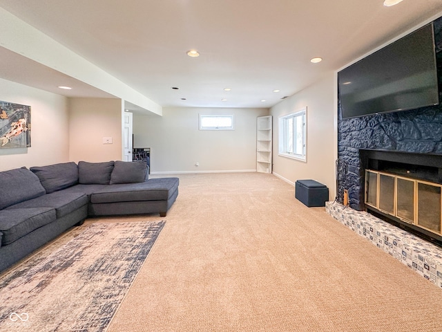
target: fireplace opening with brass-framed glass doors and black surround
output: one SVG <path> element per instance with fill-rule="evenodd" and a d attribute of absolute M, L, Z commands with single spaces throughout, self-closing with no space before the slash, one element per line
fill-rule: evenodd
<path fill-rule="evenodd" d="M 442 156 L 378 149 L 359 153 L 364 210 L 442 247 Z"/>

